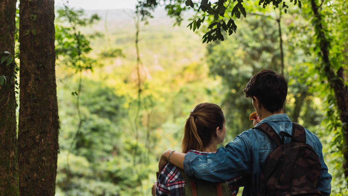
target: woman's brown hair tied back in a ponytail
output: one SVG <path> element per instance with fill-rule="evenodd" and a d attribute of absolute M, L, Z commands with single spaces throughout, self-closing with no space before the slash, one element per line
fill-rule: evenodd
<path fill-rule="evenodd" d="M 211 142 L 216 128 L 223 127 L 225 117 L 219 105 L 200 103 L 191 111 L 184 127 L 181 151 L 203 151 Z"/>

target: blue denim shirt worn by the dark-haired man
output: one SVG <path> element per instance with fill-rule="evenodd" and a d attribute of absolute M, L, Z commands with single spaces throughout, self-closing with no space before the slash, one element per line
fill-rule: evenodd
<path fill-rule="evenodd" d="M 270 124 L 279 134 L 280 131 L 292 133 L 292 123 L 286 114 L 271 115 L 260 123 Z M 259 123 L 259 124 L 260 124 Z M 257 126 L 257 125 L 256 125 Z M 318 137 L 306 129 L 306 143 L 310 144 L 319 155 L 322 172 L 319 190 L 324 196 L 331 193 L 331 174 L 324 162 L 322 144 Z M 290 138 L 285 138 L 290 143 Z M 276 148 L 276 144 L 260 130 L 249 129 L 236 136 L 225 148 L 217 149 L 216 153 L 207 156 L 189 152 L 185 155 L 185 173 L 196 178 L 219 182 L 239 174 L 246 174 L 243 196 L 256 195 L 259 180 L 266 157 Z"/>

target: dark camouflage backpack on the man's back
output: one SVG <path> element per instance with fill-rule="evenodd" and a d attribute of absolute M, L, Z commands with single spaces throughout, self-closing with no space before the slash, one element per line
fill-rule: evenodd
<path fill-rule="evenodd" d="M 266 158 L 260 177 L 257 196 L 322 196 L 318 190 L 321 173 L 319 156 L 306 144 L 304 128 L 292 123 L 292 135 L 281 131 L 279 135 L 267 123 L 254 128 L 266 133 L 277 148 Z M 284 144 L 284 137 L 291 143 Z"/>

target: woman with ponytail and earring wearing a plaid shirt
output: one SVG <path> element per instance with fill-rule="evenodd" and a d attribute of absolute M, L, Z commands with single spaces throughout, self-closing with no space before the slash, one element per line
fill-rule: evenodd
<path fill-rule="evenodd" d="M 196 105 L 185 123 L 181 152 L 194 152 L 199 155 L 216 152 L 216 145 L 222 143 L 225 138 L 225 123 L 226 119 L 218 105 L 213 103 Z M 228 183 L 232 195 L 237 195 L 241 181 L 240 176 L 225 181 Z M 168 164 L 157 180 L 156 196 L 182 196 L 184 185 L 184 178 L 177 167 L 170 163 L 169 156 Z"/>

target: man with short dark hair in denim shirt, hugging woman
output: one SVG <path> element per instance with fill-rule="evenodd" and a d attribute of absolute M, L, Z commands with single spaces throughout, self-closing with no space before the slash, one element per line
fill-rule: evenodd
<path fill-rule="evenodd" d="M 292 122 L 283 113 L 283 104 L 287 94 L 287 82 L 285 78 L 275 71 L 262 70 L 256 73 L 247 83 L 245 96 L 252 98 L 252 104 L 258 114 L 253 120 L 254 126 L 268 123 L 276 132 L 292 133 Z M 306 143 L 318 154 L 321 162 L 321 175 L 318 190 L 323 196 L 331 193 L 332 177 L 324 162 L 322 144 L 318 137 L 305 129 Z M 285 138 L 284 143 L 290 143 L 290 138 Z M 216 153 L 201 156 L 188 152 L 172 154 L 170 162 L 185 170 L 186 174 L 193 177 L 218 182 L 243 174 L 248 179 L 243 190 L 243 196 L 256 195 L 261 172 L 266 157 L 276 148 L 276 144 L 262 131 L 249 129 L 236 136 L 225 148 L 217 149 Z M 171 150 L 163 152 L 159 169 L 167 162 Z"/>

